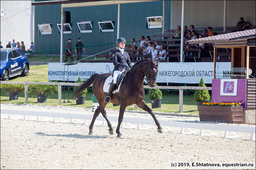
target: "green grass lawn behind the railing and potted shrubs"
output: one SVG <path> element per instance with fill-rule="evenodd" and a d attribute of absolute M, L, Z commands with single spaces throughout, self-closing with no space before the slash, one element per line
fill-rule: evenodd
<path fill-rule="evenodd" d="M 40 82 L 48 82 L 48 65 L 30 65 L 29 75 L 26 77 L 20 77 L 16 76 L 14 78 L 10 78 L 10 81 L 16 81 L 16 82 L 23 82 L 23 81 L 35 81 L 38 80 Z M 28 85 L 29 86 L 29 85 Z M 69 91 L 69 96 L 73 94 L 73 90 Z M 189 93 L 188 93 L 189 94 Z M 69 101 L 72 103 L 62 103 L 63 106 L 72 106 L 72 107 L 85 107 L 85 108 L 91 108 L 92 106 L 92 91 L 90 90 L 87 92 L 85 97 L 85 104 L 83 105 L 76 105 L 75 98 L 70 98 Z M 33 95 L 33 93 L 29 94 L 28 103 L 25 103 L 25 94 L 19 93 L 19 99 L 18 100 L 11 100 L 9 101 L 8 92 L 1 89 L 1 103 L 15 103 L 15 104 L 38 104 L 38 105 L 58 105 L 58 92 L 54 92 L 54 94 L 49 94 L 47 96 L 47 102 L 46 103 L 37 103 L 37 97 Z M 211 98 L 210 98 L 211 99 Z M 151 101 L 149 99 L 148 94 L 145 94 L 144 98 L 146 104 L 151 108 Z M 62 89 L 62 102 L 64 101 L 64 90 Z M 68 91 L 65 90 L 65 101 L 68 101 Z M 116 109 L 119 110 L 119 106 L 113 106 L 111 103 L 107 104 L 107 109 Z M 128 106 L 126 109 L 128 110 L 135 110 L 134 105 Z M 138 109 L 142 110 L 142 109 Z M 167 92 L 163 93 L 162 97 L 162 104 L 161 108 L 153 108 L 153 111 L 159 111 L 159 112 L 174 112 L 179 113 L 179 95 L 176 94 L 170 94 Z M 184 93 L 183 95 L 183 113 L 188 114 L 199 114 L 197 110 L 197 103 L 194 100 L 193 93 L 190 95 L 186 95 Z"/>

